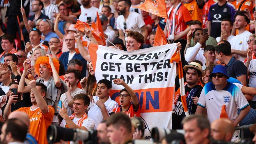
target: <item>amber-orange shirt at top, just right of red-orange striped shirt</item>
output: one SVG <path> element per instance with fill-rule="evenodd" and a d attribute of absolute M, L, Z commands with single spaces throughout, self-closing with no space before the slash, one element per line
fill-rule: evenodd
<path fill-rule="evenodd" d="M 184 6 L 188 9 L 193 20 L 199 20 L 203 23 L 203 6 L 198 6 L 196 0 L 193 0 L 190 3 L 185 3 Z"/>

